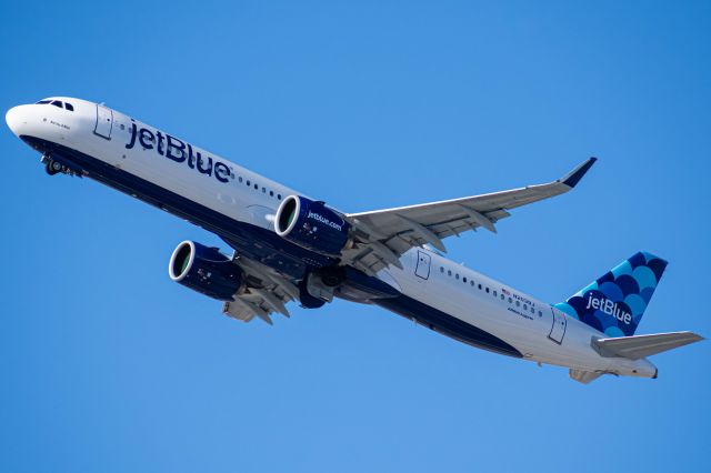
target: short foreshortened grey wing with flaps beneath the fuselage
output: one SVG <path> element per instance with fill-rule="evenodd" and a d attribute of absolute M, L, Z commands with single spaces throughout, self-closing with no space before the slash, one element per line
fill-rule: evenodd
<path fill-rule="evenodd" d="M 250 322 L 254 316 L 272 325 L 274 312 L 289 316 L 287 303 L 299 300 L 299 288 L 268 266 L 240 256 L 234 260 L 249 280 L 246 289 L 222 306 L 222 313 L 232 319 Z"/>

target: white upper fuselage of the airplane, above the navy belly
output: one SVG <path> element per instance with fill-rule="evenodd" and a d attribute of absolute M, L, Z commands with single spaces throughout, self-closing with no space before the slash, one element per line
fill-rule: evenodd
<path fill-rule="evenodd" d="M 79 99 L 57 99 L 74 110 L 51 104 L 17 107 L 7 117 L 12 131 L 79 151 L 229 221 L 268 231 L 273 231 L 281 200 L 299 194 L 116 110 Z M 170 202 L 152 203 L 174 210 Z M 437 252 L 410 250 L 401 263 L 402 269 L 389 266 L 378 276 L 408 298 L 504 341 L 527 360 L 623 375 L 652 378 L 657 373 L 645 359 L 600 356 L 591 340 L 605 338 L 603 333 Z"/>

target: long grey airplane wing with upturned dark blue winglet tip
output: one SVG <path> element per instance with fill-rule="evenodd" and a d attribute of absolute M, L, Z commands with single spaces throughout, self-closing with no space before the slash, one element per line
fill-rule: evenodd
<path fill-rule="evenodd" d="M 343 252 L 343 262 L 374 274 L 389 264 L 400 266 L 399 256 L 413 246 L 429 243 L 445 252 L 442 239 L 447 236 L 480 227 L 495 232 L 494 223 L 510 217 L 508 210 L 570 191 L 595 161 L 597 158 L 590 158 L 563 178 L 547 184 L 346 214 L 359 238 L 353 248 Z"/>

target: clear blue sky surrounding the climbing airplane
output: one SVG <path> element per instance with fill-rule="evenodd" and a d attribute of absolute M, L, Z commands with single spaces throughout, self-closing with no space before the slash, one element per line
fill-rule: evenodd
<path fill-rule="evenodd" d="M 353 212 L 598 155 L 450 256 L 557 302 L 650 251 L 638 332 L 709 336 L 710 4 L 574 3 L 4 3 L 0 105 L 103 101 Z M 1 471 L 709 471 L 709 342 L 583 386 L 342 301 L 240 324 L 167 274 L 216 236 L 0 145 Z"/>

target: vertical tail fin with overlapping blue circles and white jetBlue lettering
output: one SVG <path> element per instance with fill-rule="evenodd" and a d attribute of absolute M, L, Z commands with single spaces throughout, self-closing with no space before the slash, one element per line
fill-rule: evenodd
<path fill-rule="evenodd" d="M 665 268 L 640 251 L 555 308 L 608 336 L 633 335 Z"/>

